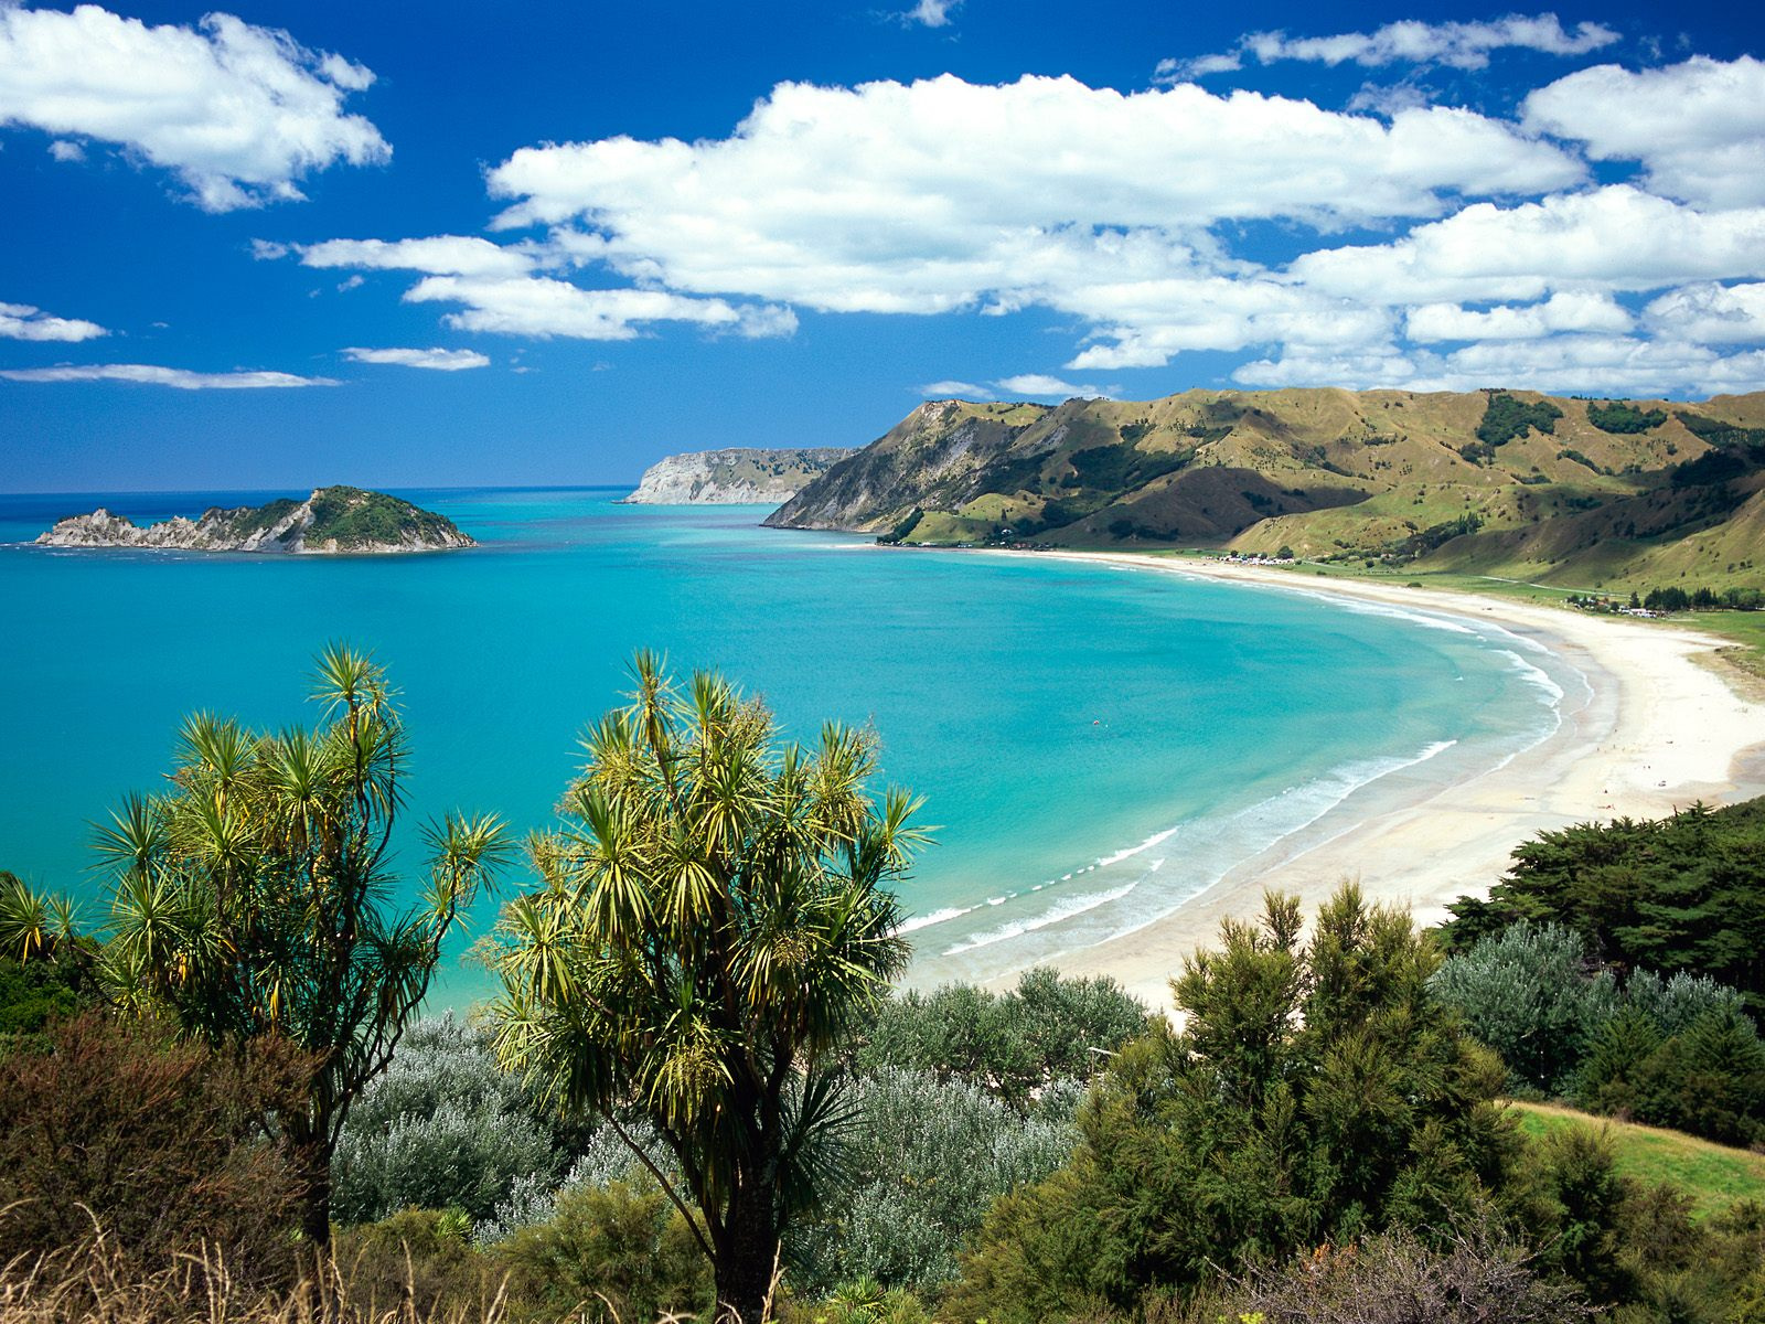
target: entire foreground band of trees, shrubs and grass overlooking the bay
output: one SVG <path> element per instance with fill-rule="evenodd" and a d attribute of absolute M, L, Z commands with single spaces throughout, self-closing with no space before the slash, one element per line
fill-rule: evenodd
<path fill-rule="evenodd" d="M 632 674 L 464 1020 L 422 996 L 514 846 L 445 814 L 390 904 L 409 741 L 346 646 L 314 731 L 185 724 L 106 914 L 0 874 L 0 1319 L 1761 1319 L 1765 801 L 1546 831 L 1435 930 L 1269 891 L 1177 1022 L 891 989 L 877 736 Z"/>

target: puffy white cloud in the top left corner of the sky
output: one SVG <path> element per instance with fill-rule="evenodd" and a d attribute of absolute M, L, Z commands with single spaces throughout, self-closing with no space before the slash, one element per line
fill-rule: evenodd
<path fill-rule="evenodd" d="M 120 143 L 210 212 L 302 198 L 298 180 L 392 148 L 342 102 L 372 74 L 231 14 L 148 26 L 79 5 L 0 5 L 0 124 Z"/>

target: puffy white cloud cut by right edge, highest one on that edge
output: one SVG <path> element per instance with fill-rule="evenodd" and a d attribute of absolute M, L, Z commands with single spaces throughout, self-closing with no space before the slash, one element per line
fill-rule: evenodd
<path fill-rule="evenodd" d="M 1532 131 L 1578 139 L 1596 161 L 1640 161 L 1649 187 L 1670 198 L 1765 203 L 1765 64 L 1749 55 L 1583 69 L 1528 95 L 1523 113 Z"/>

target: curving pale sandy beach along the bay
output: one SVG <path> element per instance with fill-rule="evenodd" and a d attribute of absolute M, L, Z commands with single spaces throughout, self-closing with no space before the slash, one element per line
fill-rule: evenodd
<path fill-rule="evenodd" d="M 1504 766 L 1333 824 L 1322 840 L 1281 842 L 1175 913 L 1059 962 L 1071 974 L 1110 974 L 1153 1006 L 1168 1006 L 1167 982 L 1183 957 L 1211 944 L 1223 918 L 1251 916 L 1266 888 L 1297 893 L 1311 911 L 1338 883 L 1359 879 L 1371 899 L 1405 904 L 1431 923 L 1456 897 L 1486 891 L 1513 849 L 1543 830 L 1765 794 L 1765 704 L 1709 664 L 1726 641 L 1694 628 L 1398 584 L 1301 581 L 1281 567 L 1033 554 L 1495 621 L 1550 648 L 1587 680 L 1585 694 L 1564 697 L 1557 731 Z"/>

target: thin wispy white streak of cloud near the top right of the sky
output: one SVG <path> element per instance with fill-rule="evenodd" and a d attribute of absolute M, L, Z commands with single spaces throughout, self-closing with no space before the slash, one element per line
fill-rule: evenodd
<path fill-rule="evenodd" d="M 1243 56 L 1253 55 L 1260 64 L 1278 60 L 1306 60 L 1313 64 L 1357 64 L 1382 67 L 1391 64 L 1449 65 L 1453 69 L 1484 69 L 1490 55 L 1502 49 L 1543 51 L 1544 55 L 1587 55 L 1619 41 L 1619 34 L 1603 23 L 1578 23 L 1566 32 L 1555 14 L 1509 14 L 1490 23 L 1423 23 L 1403 19 L 1387 23 L 1375 32 L 1338 32 L 1327 37 L 1288 37 L 1285 32 L 1251 32 L 1239 39 L 1237 48 L 1225 55 L 1202 55 L 1193 60 L 1161 60 L 1158 78 L 1175 81 L 1232 72 L 1243 67 Z"/>

